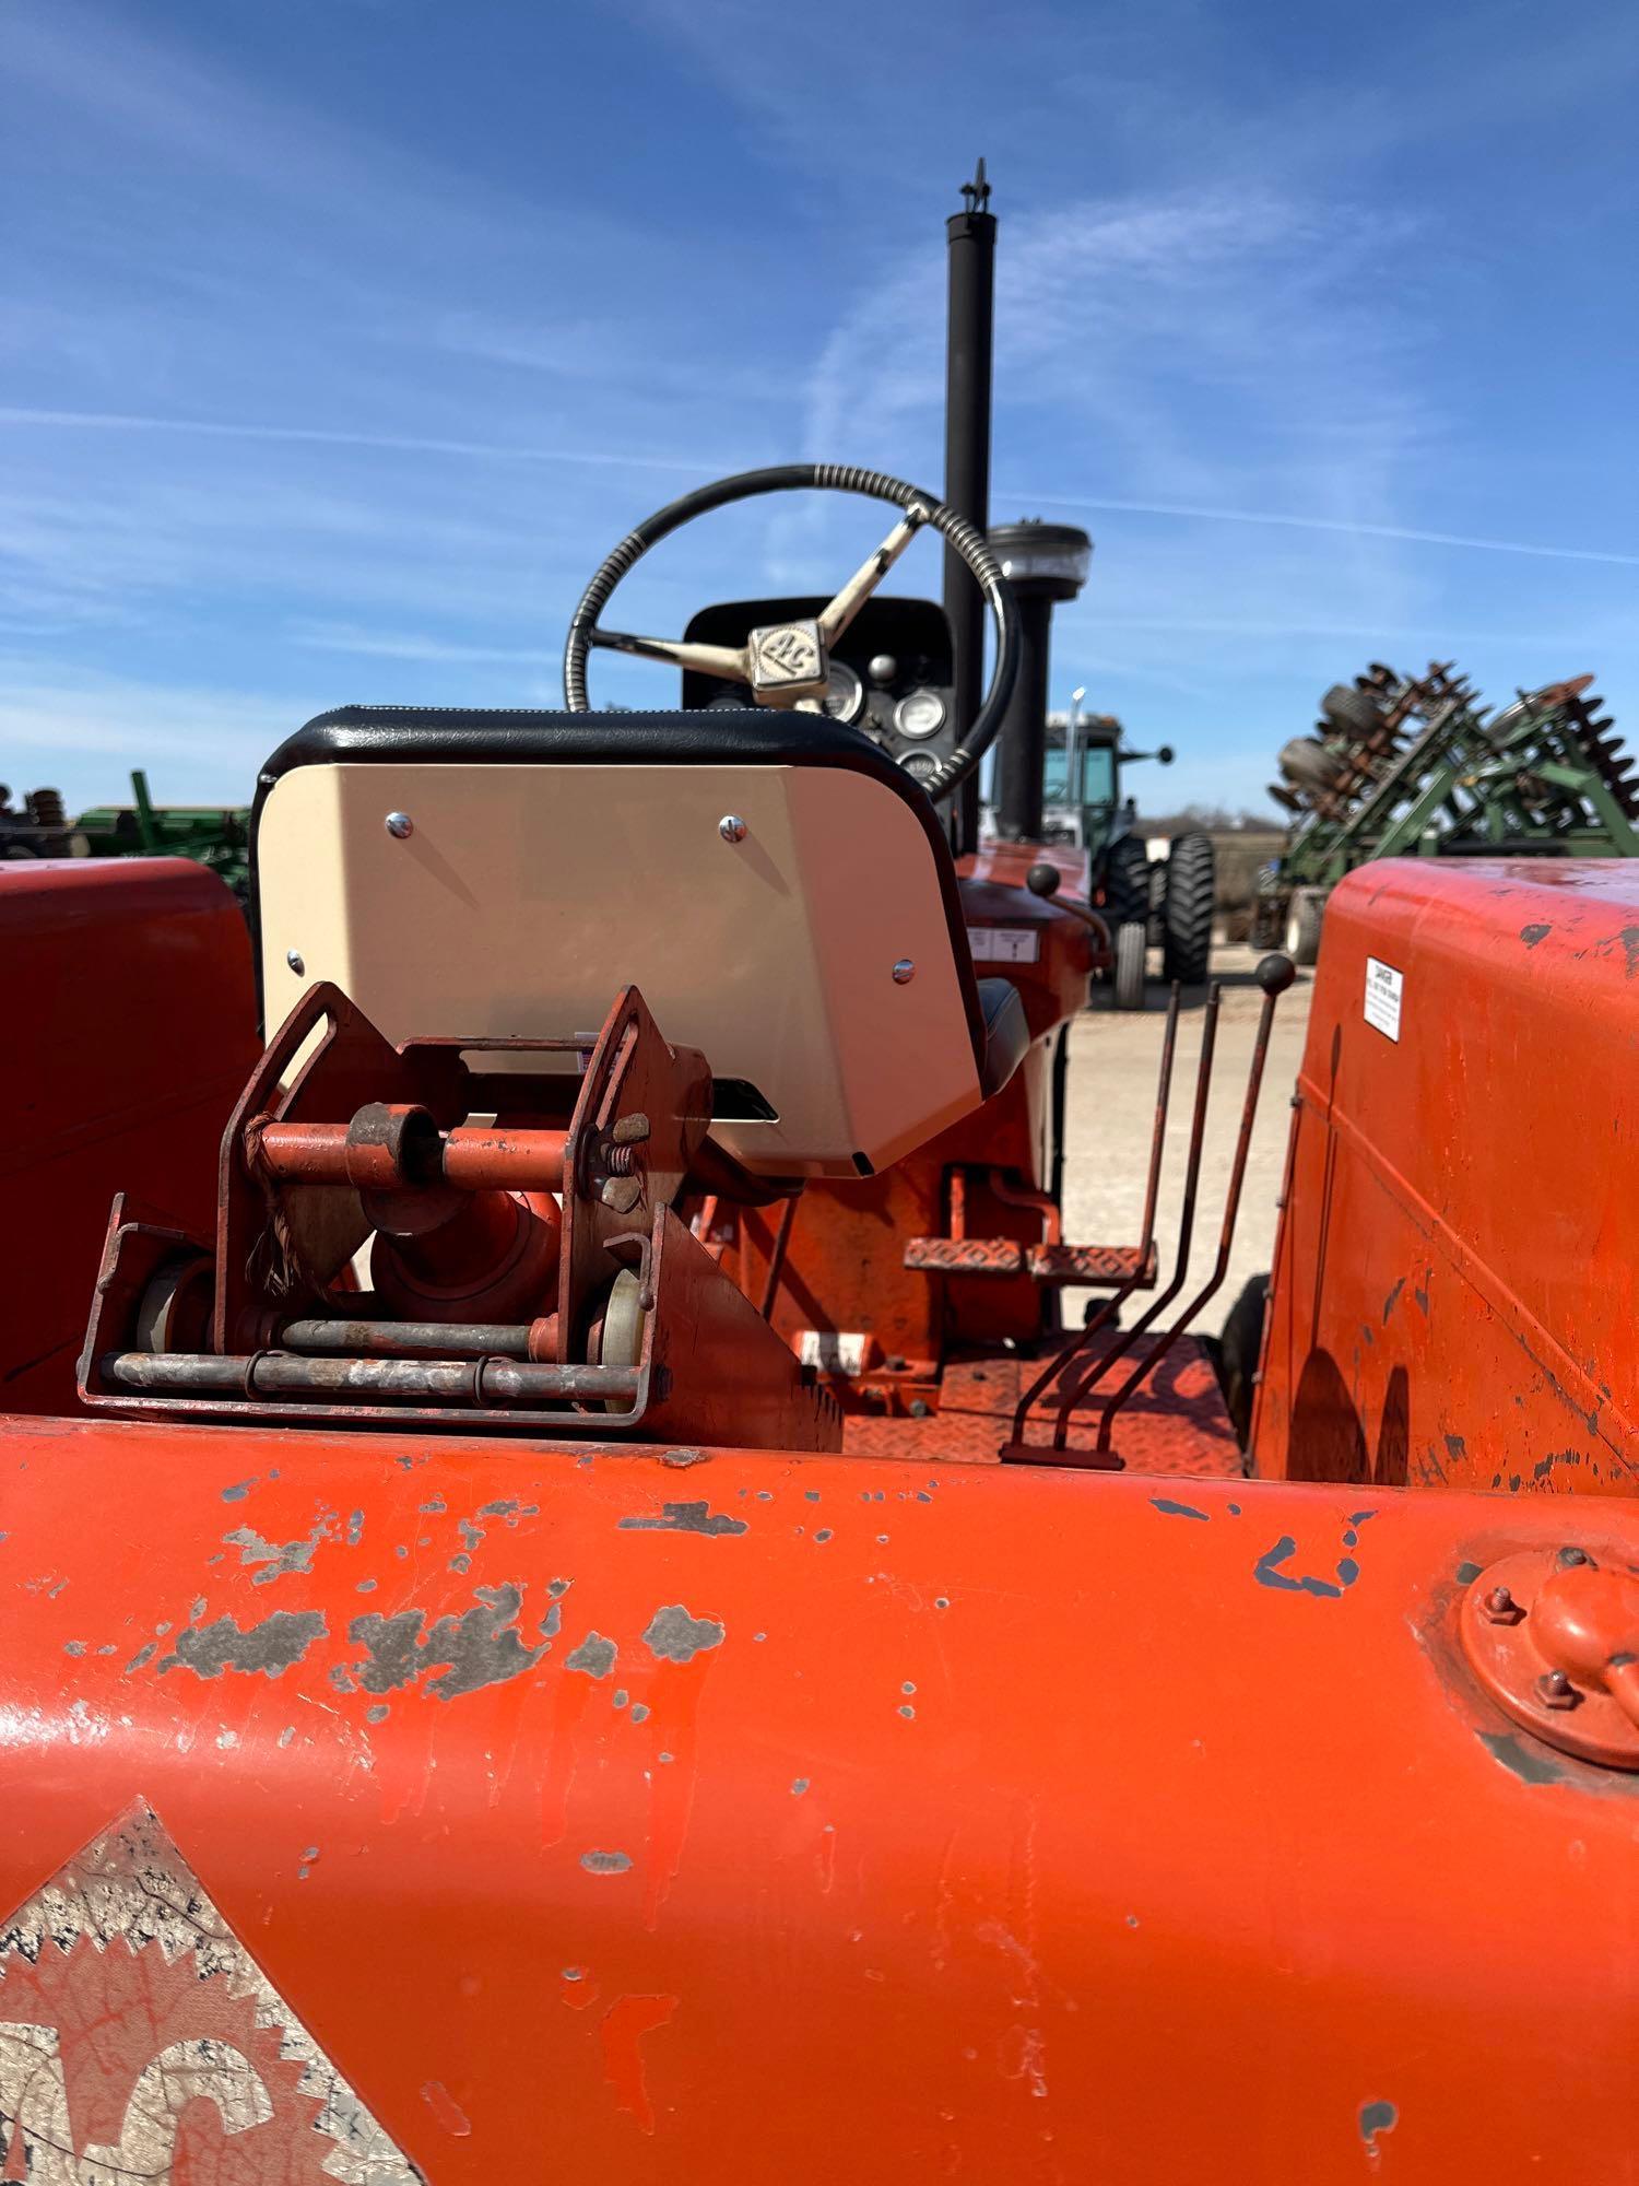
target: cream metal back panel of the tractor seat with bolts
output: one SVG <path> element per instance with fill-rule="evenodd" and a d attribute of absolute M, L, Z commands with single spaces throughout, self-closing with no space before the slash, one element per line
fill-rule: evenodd
<path fill-rule="evenodd" d="M 636 982 L 778 1108 L 717 1126 L 774 1174 L 883 1167 L 979 1100 L 933 853 L 841 767 L 295 767 L 258 892 L 269 1030 L 334 979 L 393 1041 L 594 1034 Z"/>

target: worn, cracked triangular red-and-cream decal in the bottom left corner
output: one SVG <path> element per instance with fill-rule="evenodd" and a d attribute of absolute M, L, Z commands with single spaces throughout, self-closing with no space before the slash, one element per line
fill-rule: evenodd
<path fill-rule="evenodd" d="M 420 2186 L 149 1806 L 0 1924 L 0 2179 Z"/>

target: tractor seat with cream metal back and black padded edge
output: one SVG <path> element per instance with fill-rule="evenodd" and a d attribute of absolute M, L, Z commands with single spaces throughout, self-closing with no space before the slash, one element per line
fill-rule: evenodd
<path fill-rule="evenodd" d="M 343 706 L 260 774 L 251 905 L 269 1034 L 332 979 L 389 1041 L 590 1043 L 636 984 L 765 1176 L 870 1176 L 1029 1047 L 933 804 L 824 715 Z"/>

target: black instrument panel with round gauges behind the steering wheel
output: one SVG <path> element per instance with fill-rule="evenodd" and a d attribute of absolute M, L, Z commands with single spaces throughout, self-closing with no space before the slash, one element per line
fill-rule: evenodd
<path fill-rule="evenodd" d="M 747 630 L 820 614 L 824 599 L 728 599 L 701 608 L 684 636 L 741 645 Z M 820 706 L 881 743 L 907 774 L 933 780 L 955 750 L 959 724 L 953 693 L 953 645 L 944 608 L 931 599 L 874 595 L 830 654 L 830 682 Z M 745 684 L 684 671 L 684 708 L 750 706 Z"/>

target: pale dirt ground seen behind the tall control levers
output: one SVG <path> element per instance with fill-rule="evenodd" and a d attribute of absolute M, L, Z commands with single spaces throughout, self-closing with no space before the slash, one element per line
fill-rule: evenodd
<path fill-rule="evenodd" d="M 1158 957 L 1152 951 L 1152 968 Z M 1217 1021 L 1217 1060 L 1213 1097 L 1206 1113 L 1206 1154 L 1202 1161 L 1195 1239 L 1189 1255 L 1189 1288 L 1182 1298 L 1206 1281 L 1217 1255 L 1224 1189 L 1228 1185 L 1235 1135 L 1241 1121 L 1246 1071 L 1252 1058 L 1252 1036 L 1261 992 L 1252 984 L 1257 955 L 1250 949 L 1215 949 L 1213 973 L 1224 984 L 1224 1006 Z M 1241 1194 L 1241 1218 L 1235 1231 L 1228 1277 L 1217 1296 L 1200 1314 L 1200 1327 L 1217 1331 L 1248 1274 L 1267 1270 L 1274 1246 L 1276 1196 L 1285 1163 L 1292 1084 L 1298 1073 L 1302 1038 L 1309 1023 L 1313 973 L 1300 971 L 1281 999 L 1263 1073 L 1252 1159 Z M 1195 1097 L 1195 1069 L 1206 995 L 1184 992 L 1178 1021 L 1178 1060 L 1174 1065 L 1171 1110 L 1167 1119 L 1167 1154 L 1160 1172 L 1160 1207 L 1156 1244 L 1160 1248 L 1160 1281 L 1171 1279 L 1178 1250 L 1178 1202 L 1189 1154 L 1189 1117 Z M 1167 988 L 1149 982 L 1143 1012 L 1117 1014 L 1104 992 L 1071 1032 L 1069 1150 L 1064 1159 L 1064 1235 L 1071 1242 L 1136 1244 L 1143 1220 L 1145 1165 L 1156 1113 L 1156 1071 L 1160 1034 L 1167 1012 Z M 1180 1303 L 1182 1303 L 1180 1298 Z M 1071 1325 L 1082 1312 L 1066 1298 Z"/>

